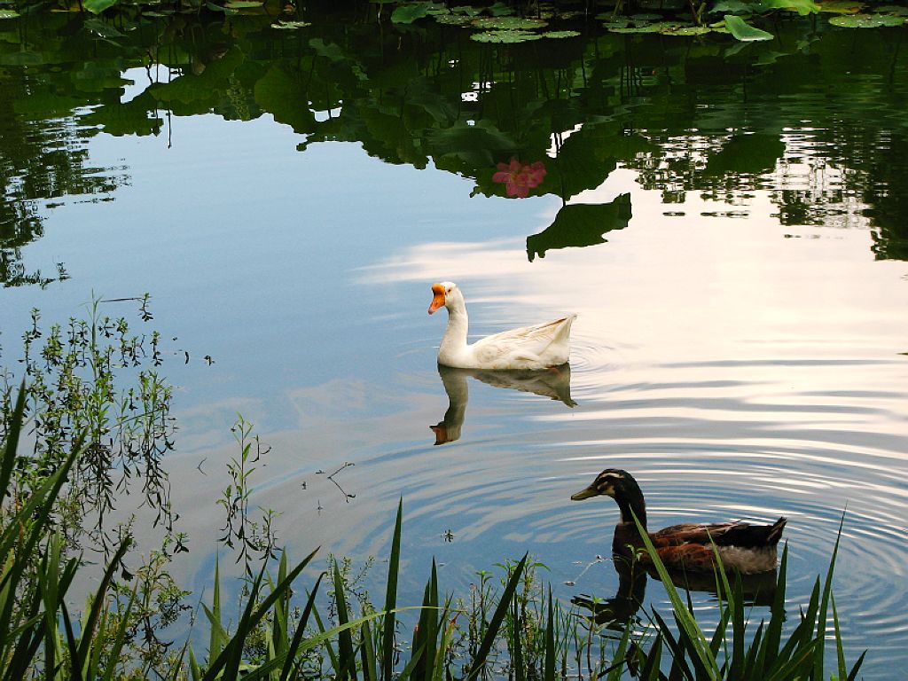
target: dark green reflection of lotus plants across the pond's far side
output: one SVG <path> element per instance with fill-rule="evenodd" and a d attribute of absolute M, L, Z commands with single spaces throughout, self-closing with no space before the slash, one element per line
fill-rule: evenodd
<path fill-rule="evenodd" d="M 741 44 L 581 22 L 580 37 L 503 47 L 457 27 L 305 18 L 294 31 L 265 15 L 0 22 L 0 281 L 52 281 L 22 251 L 47 210 L 110 199 L 127 180 L 128 169 L 92 167 L 90 137 L 158 135 L 168 117 L 209 113 L 269 114 L 306 135 L 301 151 L 349 141 L 387 163 L 434 163 L 478 194 L 557 195 L 566 206 L 528 239 L 531 259 L 627 224 L 629 202 L 571 203 L 618 167 L 666 203 L 769 192 L 785 225 L 847 226 L 856 210 L 876 257 L 908 259 L 903 30 L 794 21 L 775 41 Z M 123 103 L 123 73 L 140 68 Z M 792 182 L 793 168 L 810 182 Z"/>

